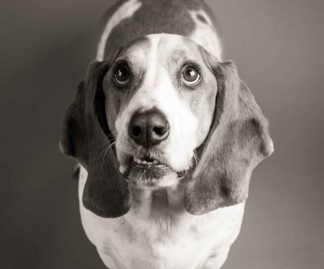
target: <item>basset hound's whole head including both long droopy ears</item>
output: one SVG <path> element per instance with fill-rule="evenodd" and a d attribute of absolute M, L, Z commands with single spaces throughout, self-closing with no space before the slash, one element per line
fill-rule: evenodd
<path fill-rule="evenodd" d="M 60 148 L 88 171 L 84 206 L 117 217 L 131 207 L 129 184 L 163 188 L 183 174 L 191 214 L 242 202 L 273 143 L 232 62 L 160 34 L 91 64 L 63 119 Z"/>

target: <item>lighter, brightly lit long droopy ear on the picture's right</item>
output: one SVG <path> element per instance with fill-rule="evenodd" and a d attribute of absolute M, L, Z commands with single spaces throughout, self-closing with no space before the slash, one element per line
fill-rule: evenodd
<path fill-rule="evenodd" d="M 218 87 L 214 119 L 184 196 L 185 209 L 194 215 L 243 202 L 252 170 L 274 151 L 268 121 L 235 65 L 212 69 Z"/>

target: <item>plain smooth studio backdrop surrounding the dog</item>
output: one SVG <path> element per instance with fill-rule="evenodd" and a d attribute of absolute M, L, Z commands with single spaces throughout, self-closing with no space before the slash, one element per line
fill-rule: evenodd
<path fill-rule="evenodd" d="M 0 264 L 104 269 L 79 216 L 61 117 L 93 60 L 110 0 L 1 1 Z M 324 1 L 208 0 L 224 60 L 270 121 L 275 153 L 251 178 L 224 269 L 324 264 Z M 184 6 L 185 8 L 185 6 Z"/>

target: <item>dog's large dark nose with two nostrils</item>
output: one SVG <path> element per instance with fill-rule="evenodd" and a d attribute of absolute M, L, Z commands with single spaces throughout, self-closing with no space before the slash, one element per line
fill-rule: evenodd
<path fill-rule="evenodd" d="M 135 112 L 128 127 L 128 134 L 144 147 L 159 144 L 169 136 L 170 126 L 165 115 L 158 109 Z"/>

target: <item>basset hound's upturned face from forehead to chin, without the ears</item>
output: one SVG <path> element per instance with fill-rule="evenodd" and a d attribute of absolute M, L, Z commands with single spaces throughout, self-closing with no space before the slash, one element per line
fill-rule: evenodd
<path fill-rule="evenodd" d="M 137 188 L 176 183 L 214 115 L 217 81 L 205 51 L 181 36 L 152 35 L 110 64 L 103 92 L 120 170 Z"/>

